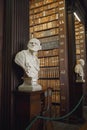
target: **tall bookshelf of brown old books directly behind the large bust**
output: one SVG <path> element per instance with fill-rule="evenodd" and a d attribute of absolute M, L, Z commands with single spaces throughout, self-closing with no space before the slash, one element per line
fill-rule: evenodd
<path fill-rule="evenodd" d="M 36 37 L 42 44 L 42 50 L 38 52 L 38 82 L 43 90 L 52 89 L 52 110 L 57 115 L 60 108 L 67 111 L 68 102 L 65 0 L 29 2 L 29 38 Z"/>

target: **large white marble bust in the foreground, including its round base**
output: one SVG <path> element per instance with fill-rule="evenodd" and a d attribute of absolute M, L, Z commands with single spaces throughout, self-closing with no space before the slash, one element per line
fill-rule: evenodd
<path fill-rule="evenodd" d="M 23 84 L 18 87 L 20 91 L 37 91 L 41 90 L 38 84 L 39 59 L 38 50 L 41 50 L 40 41 L 36 38 L 30 39 L 27 44 L 28 49 L 18 52 L 15 56 L 15 63 L 24 70 Z"/>

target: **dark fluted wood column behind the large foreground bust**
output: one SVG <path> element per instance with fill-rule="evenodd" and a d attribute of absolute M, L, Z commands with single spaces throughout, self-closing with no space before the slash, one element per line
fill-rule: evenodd
<path fill-rule="evenodd" d="M 18 84 L 15 54 L 28 42 L 29 0 L 6 0 L 4 14 L 2 129 L 14 130 L 13 93 Z M 19 72 L 21 73 L 21 72 Z"/>

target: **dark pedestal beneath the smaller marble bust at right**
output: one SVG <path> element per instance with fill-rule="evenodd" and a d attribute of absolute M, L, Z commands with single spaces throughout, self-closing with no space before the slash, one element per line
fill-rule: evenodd
<path fill-rule="evenodd" d="M 76 85 L 73 87 L 73 95 L 72 100 L 70 101 L 71 104 L 71 110 L 75 109 L 75 111 L 72 112 L 70 116 L 70 121 L 72 123 L 83 123 L 83 83 L 76 83 Z M 82 99 L 82 100 L 81 100 Z M 81 100 L 81 102 L 80 102 Z M 80 102 L 80 103 L 79 103 Z"/>

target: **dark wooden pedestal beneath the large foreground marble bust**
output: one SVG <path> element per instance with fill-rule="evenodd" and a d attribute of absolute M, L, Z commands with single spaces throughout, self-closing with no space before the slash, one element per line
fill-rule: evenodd
<path fill-rule="evenodd" d="M 43 95 L 44 91 L 14 92 L 16 130 L 25 130 L 30 121 L 41 113 L 41 97 Z M 35 130 L 35 128 L 32 128 L 32 130 Z"/>

